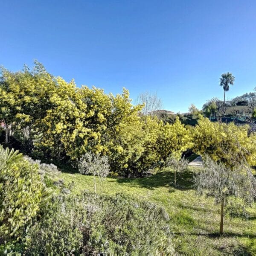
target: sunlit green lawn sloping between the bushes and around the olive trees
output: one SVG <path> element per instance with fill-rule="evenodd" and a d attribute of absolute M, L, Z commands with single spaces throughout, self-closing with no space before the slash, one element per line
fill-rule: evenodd
<path fill-rule="evenodd" d="M 106 178 L 97 180 L 97 192 L 115 194 L 124 192 L 162 205 L 171 217 L 175 232 L 176 250 L 183 254 L 218 255 L 244 253 L 256 255 L 256 209 L 249 209 L 251 217 L 225 218 L 225 235 L 218 237 L 220 207 L 213 198 L 198 198 L 192 189 L 195 169 L 180 175 L 177 187 L 172 185 L 173 173 L 163 171 L 157 175 L 137 179 Z M 63 172 L 65 184 L 74 182 L 73 193 L 93 191 L 93 177 Z"/>

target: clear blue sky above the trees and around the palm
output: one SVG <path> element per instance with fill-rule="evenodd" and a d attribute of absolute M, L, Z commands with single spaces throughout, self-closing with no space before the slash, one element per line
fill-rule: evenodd
<path fill-rule="evenodd" d="M 187 112 L 256 86 L 256 1 L 0 0 L 0 64 L 33 59 L 49 73 L 131 98 L 157 91 L 164 108 Z"/>

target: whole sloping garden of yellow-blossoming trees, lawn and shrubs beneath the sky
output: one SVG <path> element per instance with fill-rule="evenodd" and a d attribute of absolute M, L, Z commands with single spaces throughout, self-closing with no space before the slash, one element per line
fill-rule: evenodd
<path fill-rule="evenodd" d="M 249 125 L 169 124 L 38 62 L 2 68 L 0 102 L 2 254 L 256 253 Z"/>

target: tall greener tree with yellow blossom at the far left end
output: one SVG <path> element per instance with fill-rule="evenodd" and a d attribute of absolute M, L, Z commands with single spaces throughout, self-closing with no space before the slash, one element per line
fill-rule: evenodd
<path fill-rule="evenodd" d="M 32 71 L 25 67 L 23 72 L 12 73 L 2 68 L 1 73 L 0 117 L 11 126 L 14 135 L 18 132 L 18 140 L 31 150 L 31 136 L 35 132 L 32 126 L 49 108 L 49 95 L 56 87 L 55 78 L 37 61 Z"/>

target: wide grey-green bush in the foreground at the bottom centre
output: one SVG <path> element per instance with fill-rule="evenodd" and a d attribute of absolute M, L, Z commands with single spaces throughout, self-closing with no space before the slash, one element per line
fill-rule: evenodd
<path fill-rule="evenodd" d="M 163 208 L 128 196 L 58 196 L 26 236 L 26 255 L 174 253 Z"/>

